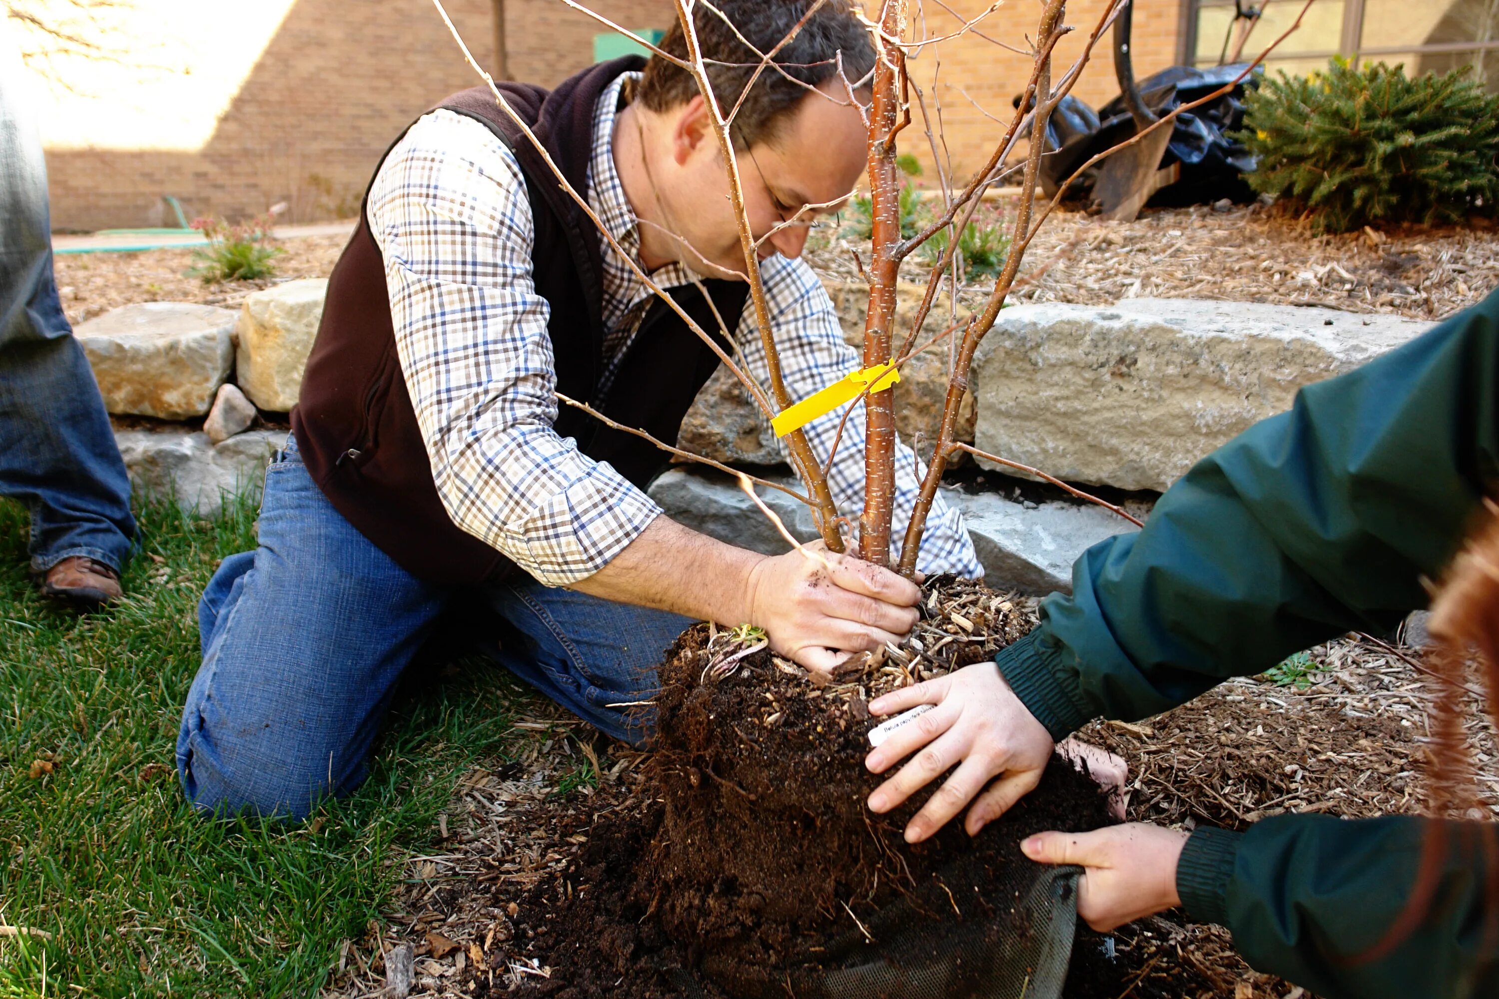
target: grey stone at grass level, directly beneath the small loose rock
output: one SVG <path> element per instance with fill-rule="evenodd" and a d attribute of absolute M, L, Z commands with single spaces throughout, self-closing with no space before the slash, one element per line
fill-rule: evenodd
<path fill-rule="evenodd" d="M 271 454 L 286 443 L 285 430 L 250 430 L 220 445 L 187 430 L 120 430 L 114 437 L 138 497 L 171 497 L 199 517 L 214 517 L 228 496 L 258 499 Z"/>

